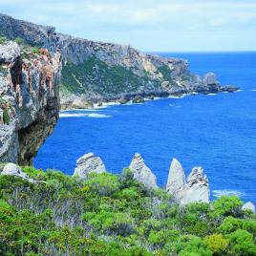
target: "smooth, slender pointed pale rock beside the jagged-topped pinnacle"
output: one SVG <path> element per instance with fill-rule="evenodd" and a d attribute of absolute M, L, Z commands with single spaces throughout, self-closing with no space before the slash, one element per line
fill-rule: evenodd
<path fill-rule="evenodd" d="M 174 196 L 177 202 L 181 202 L 184 185 L 185 175 L 181 163 L 179 160 L 173 159 L 169 170 L 166 190 Z"/>

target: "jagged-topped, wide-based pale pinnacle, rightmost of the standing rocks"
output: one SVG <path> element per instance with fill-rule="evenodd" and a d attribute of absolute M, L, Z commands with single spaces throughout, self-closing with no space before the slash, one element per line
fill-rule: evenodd
<path fill-rule="evenodd" d="M 203 175 L 202 167 L 194 167 L 184 186 L 181 204 L 202 202 L 209 203 L 209 183 Z"/>

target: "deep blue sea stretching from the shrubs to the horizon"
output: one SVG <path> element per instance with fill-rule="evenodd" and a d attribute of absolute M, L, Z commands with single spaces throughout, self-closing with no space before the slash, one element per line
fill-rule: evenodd
<path fill-rule="evenodd" d="M 94 152 L 120 173 L 139 152 L 164 186 L 177 158 L 186 175 L 203 166 L 212 198 L 235 193 L 256 203 L 256 53 L 160 54 L 185 58 L 191 72 L 214 72 L 241 91 L 64 112 L 34 166 L 73 174 L 75 160 Z"/>

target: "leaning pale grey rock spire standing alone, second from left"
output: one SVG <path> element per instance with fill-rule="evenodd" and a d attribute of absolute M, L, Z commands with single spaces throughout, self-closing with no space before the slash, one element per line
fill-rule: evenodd
<path fill-rule="evenodd" d="M 146 187 L 157 188 L 157 178 L 146 166 L 139 153 L 136 153 L 131 161 L 129 168 L 133 173 L 134 179 L 143 183 Z"/>

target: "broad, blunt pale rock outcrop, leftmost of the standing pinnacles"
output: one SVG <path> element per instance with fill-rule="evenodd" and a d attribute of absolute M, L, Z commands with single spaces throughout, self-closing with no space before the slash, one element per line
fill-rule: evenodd
<path fill-rule="evenodd" d="M 78 177 L 81 180 L 86 180 L 88 175 L 92 172 L 106 172 L 103 161 L 99 157 L 96 157 L 94 153 L 87 153 L 78 160 L 76 160 L 74 176 Z"/>

